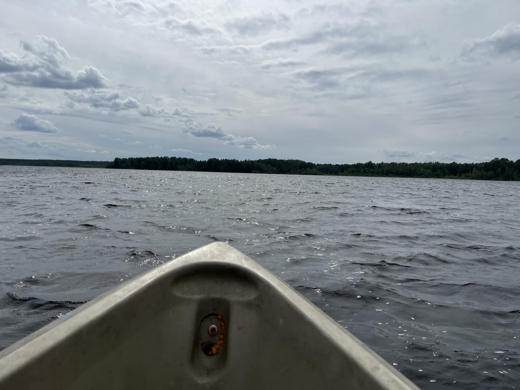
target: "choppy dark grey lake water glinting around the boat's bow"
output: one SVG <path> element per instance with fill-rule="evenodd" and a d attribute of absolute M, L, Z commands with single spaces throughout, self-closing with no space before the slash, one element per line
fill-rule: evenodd
<path fill-rule="evenodd" d="M 0 166 L 0 184 L 0 349 L 218 240 L 424 389 L 520 381 L 520 183 Z"/>

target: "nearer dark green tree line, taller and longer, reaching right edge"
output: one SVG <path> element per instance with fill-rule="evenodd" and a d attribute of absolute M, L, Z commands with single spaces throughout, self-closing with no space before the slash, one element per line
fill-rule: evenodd
<path fill-rule="evenodd" d="M 341 176 L 385 176 L 385 177 L 435 177 L 477 180 L 520 180 L 520 159 L 493 159 L 488 162 L 459 164 L 456 162 L 420 163 L 367 163 L 315 164 L 301 160 L 228 160 L 209 159 L 199 161 L 184 157 L 132 157 L 115 158 L 107 168 L 271 173 L 289 175 L 341 175 Z"/>

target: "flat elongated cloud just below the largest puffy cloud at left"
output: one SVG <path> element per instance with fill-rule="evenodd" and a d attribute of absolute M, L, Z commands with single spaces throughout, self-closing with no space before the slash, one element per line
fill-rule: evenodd
<path fill-rule="evenodd" d="M 105 108 L 111 111 L 136 109 L 140 106 L 137 99 L 131 96 L 122 98 L 119 91 L 115 89 L 89 88 L 77 92 L 66 91 L 65 95 L 70 98 L 72 103 L 86 104 L 90 107 Z"/>

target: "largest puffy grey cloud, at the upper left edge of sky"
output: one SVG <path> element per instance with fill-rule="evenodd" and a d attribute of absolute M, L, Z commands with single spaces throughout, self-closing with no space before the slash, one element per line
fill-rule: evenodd
<path fill-rule="evenodd" d="M 12 85 L 37 88 L 83 89 L 105 86 L 106 79 L 94 67 L 84 67 L 75 75 L 67 69 L 70 56 L 54 38 L 37 36 L 21 41 L 23 56 L 0 50 L 0 74 Z"/>

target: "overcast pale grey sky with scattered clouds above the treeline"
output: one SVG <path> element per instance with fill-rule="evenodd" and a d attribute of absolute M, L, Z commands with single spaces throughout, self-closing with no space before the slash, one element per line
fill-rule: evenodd
<path fill-rule="evenodd" d="M 518 0 L 0 12 L 0 158 L 520 158 Z"/>

